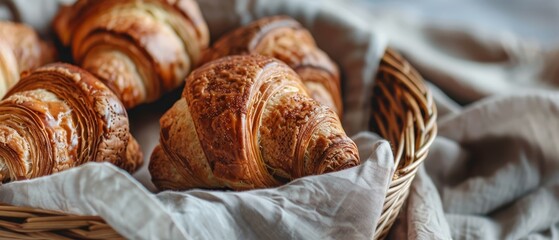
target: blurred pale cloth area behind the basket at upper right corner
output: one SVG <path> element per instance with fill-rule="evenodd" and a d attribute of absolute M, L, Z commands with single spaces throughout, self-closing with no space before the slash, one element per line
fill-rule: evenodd
<path fill-rule="evenodd" d="M 553 0 L 358 0 L 359 12 L 454 100 L 559 90 Z"/>

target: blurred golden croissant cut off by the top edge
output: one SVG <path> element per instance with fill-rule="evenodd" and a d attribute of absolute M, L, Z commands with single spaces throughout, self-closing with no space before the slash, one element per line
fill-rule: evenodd
<path fill-rule="evenodd" d="M 53 24 L 74 61 L 126 108 L 179 87 L 209 42 L 194 0 L 81 0 Z"/>

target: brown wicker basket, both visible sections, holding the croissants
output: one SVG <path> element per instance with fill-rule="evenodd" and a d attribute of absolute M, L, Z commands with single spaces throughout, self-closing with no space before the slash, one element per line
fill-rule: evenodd
<path fill-rule="evenodd" d="M 437 133 L 436 107 L 421 76 L 394 51 L 381 61 L 373 93 L 371 129 L 387 139 L 397 169 L 375 239 L 386 237 L 418 166 Z M 0 204 L 0 239 L 122 239 L 103 219 Z"/>

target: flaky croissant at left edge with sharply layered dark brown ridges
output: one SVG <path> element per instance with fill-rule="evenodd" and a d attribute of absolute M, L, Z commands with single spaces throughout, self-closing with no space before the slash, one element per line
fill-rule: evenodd
<path fill-rule="evenodd" d="M 0 181 L 90 161 L 127 171 L 141 165 L 122 103 L 101 81 L 68 64 L 24 74 L 0 102 Z"/>

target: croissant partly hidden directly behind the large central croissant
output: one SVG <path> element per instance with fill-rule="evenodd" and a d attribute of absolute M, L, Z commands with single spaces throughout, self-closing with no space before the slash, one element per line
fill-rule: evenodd
<path fill-rule="evenodd" d="M 236 54 L 261 54 L 282 60 L 301 76 L 312 98 L 342 115 L 338 68 L 297 21 L 284 16 L 268 17 L 236 29 L 208 49 L 202 63 Z"/>

